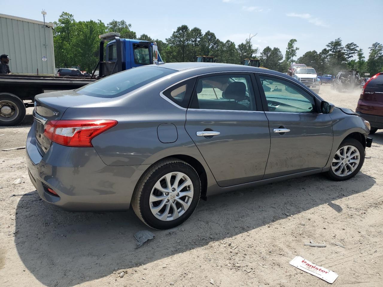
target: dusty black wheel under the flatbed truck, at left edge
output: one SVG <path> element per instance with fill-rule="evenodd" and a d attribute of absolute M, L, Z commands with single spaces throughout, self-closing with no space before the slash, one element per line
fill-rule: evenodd
<path fill-rule="evenodd" d="M 0 126 L 15 126 L 25 117 L 25 105 L 16 95 L 0 93 Z"/>

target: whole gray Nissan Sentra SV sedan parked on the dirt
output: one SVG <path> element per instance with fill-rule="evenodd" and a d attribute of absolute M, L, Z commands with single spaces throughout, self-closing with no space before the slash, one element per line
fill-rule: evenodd
<path fill-rule="evenodd" d="M 171 63 L 35 97 L 28 172 L 66 210 L 126 210 L 153 228 L 188 219 L 200 198 L 363 165 L 369 123 L 283 73 Z"/>

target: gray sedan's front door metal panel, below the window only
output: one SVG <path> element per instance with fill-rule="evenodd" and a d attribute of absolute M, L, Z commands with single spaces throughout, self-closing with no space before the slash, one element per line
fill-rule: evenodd
<path fill-rule="evenodd" d="M 323 168 L 332 148 L 332 120 L 329 114 L 268 113 L 270 155 L 265 177 L 272 178 Z M 273 129 L 284 127 L 289 132 Z"/>

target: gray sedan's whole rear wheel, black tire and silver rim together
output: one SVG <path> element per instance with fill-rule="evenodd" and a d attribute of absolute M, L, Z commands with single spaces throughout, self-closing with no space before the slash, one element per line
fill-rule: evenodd
<path fill-rule="evenodd" d="M 137 183 L 132 207 L 139 219 L 155 229 L 180 225 L 195 210 L 201 182 L 195 169 L 176 158 L 154 164 Z"/>

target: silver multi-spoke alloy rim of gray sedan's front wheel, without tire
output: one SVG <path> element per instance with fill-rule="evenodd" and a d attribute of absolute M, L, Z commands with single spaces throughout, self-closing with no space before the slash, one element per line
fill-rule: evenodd
<path fill-rule="evenodd" d="M 352 145 L 345 145 L 337 150 L 332 159 L 331 169 L 337 176 L 347 176 L 354 172 L 359 162 L 359 150 Z"/>

